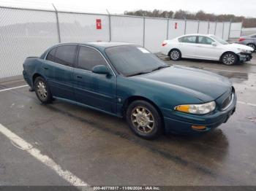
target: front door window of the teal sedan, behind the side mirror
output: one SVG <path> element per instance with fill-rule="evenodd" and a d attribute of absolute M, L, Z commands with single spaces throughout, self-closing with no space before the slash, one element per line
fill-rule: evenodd
<path fill-rule="evenodd" d="M 107 63 L 103 56 L 91 47 L 80 47 L 78 54 L 78 69 L 85 69 L 91 71 L 94 66 L 105 65 Z"/>

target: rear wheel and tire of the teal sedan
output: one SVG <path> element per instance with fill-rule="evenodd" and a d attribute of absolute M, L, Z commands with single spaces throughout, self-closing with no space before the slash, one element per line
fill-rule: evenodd
<path fill-rule="evenodd" d="M 49 104 L 53 100 L 50 88 L 42 77 L 37 77 L 34 80 L 34 91 L 42 104 Z"/>

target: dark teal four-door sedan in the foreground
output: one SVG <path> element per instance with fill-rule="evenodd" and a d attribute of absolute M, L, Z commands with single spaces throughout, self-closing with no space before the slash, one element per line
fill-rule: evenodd
<path fill-rule="evenodd" d="M 57 98 L 124 117 L 145 139 L 162 131 L 206 133 L 236 110 L 235 89 L 227 78 L 170 66 L 135 44 L 58 44 L 39 58 L 26 58 L 23 68 L 42 103 Z"/>

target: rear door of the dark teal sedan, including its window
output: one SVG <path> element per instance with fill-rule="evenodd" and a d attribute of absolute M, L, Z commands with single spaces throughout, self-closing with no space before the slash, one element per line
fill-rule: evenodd
<path fill-rule="evenodd" d="M 43 70 L 53 96 L 75 100 L 72 79 L 77 45 L 61 45 L 48 53 Z"/>

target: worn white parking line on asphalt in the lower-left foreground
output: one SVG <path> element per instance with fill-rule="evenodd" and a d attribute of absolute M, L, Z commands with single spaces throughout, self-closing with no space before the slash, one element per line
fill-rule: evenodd
<path fill-rule="evenodd" d="M 20 138 L 20 136 L 16 135 L 15 133 L 12 133 L 11 130 L 9 130 L 8 128 L 4 127 L 4 125 L 1 125 L 1 124 L 0 124 L 0 133 L 6 136 L 7 139 L 9 139 L 15 147 L 18 147 L 19 149 L 28 152 L 29 155 L 35 157 L 41 163 L 47 165 L 50 169 L 55 171 L 56 174 L 61 176 L 62 179 L 69 182 L 69 184 L 71 184 L 72 186 L 78 187 L 80 188 L 80 190 L 84 190 L 85 187 L 89 189 L 89 184 L 87 184 L 86 182 L 83 182 L 83 180 L 79 179 L 77 176 L 75 176 L 71 172 L 64 171 L 61 168 L 61 166 L 56 164 L 50 157 L 48 157 L 47 155 L 42 155 L 39 149 L 34 148 L 27 141 L 23 140 L 22 138 Z"/>

